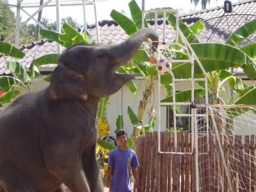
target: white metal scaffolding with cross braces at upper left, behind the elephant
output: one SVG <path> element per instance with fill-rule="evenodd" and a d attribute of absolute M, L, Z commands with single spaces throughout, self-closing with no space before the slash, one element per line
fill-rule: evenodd
<path fill-rule="evenodd" d="M 36 22 L 36 24 L 38 24 L 43 29 L 48 30 L 43 24 L 41 24 L 37 19 L 34 18 L 36 16 L 36 14 L 38 14 L 40 11 L 42 11 L 43 8 L 45 8 L 45 7 L 56 7 L 57 32 L 61 33 L 61 26 L 60 26 L 61 19 L 59 17 L 61 7 L 62 6 L 78 6 L 78 5 L 81 6 L 82 5 L 83 6 L 83 21 L 84 21 L 83 28 L 81 30 L 81 33 L 82 33 L 83 30 L 86 30 L 86 28 L 87 28 L 85 6 L 93 5 L 94 14 L 95 14 L 96 31 L 97 31 L 97 43 L 100 44 L 100 33 L 99 33 L 99 24 L 98 24 L 98 20 L 97 20 L 96 0 L 82 0 L 82 2 L 75 2 L 75 3 L 62 3 L 61 0 L 56 0 L 56 2 L 53 2 L 53 0 L 48 0 L 47 2 L 44 2 L 43 5 L 23 5 L 22 1 L 23 0 L 17 0 L 17 5 L 0 2 L 0 5 L 17 8 L 16 28 L 7 38 L 5 38 L 4 42 L 7 42 L 10 38 L 12 38 L 12 36 L 15 35 L 15 47 L 19 47 L 19 30 L 22 27 L 26 26 L 28 21 L 30 21 L 31 19 L 33 19 Z M 33 12 L 32 14 L 25 10 L 25 8 L 35 8 L 35 7 L 38 9 L 35 12 Z M 26 15 L 28 15 L 28 19 L 26 19 L 26 21 L 22 22 L 22 24 L 21 24 L 21 20 L 20 20 L 21 11 L 23 11 Z M 57 52 L 61 53 L 61 45 L 59 43 L 57 44 Z"/>

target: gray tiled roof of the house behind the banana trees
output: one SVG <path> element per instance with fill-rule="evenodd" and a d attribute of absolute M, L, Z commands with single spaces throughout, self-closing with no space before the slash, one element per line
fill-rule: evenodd
<path fill-rule="evenodd" d="M 197 34 L 197 38 L 200 42 L 218 42 L 225 43 L 230 33 L 235 31 L 239 26 L 256 19 L 256 0 L 243 0 L 232 5 L 232 13 L 224 13 L 224 6 L 219 6 L 211 9 L 203 9 L 201 11 L 191 12 L 188 14 L 181 14 L 180 19 L 190 26 L 199 19 L 202 19 L 205 23 L 204 29 Z M 155 20 L 147 20 L 149 27 L 154 28 Z M 158 30 L 163 30 L 163 19 L 157 20 Z M 91 24 L 87 26 L 87 29 L 96 41 L 96 25 Z M 78 31 L 81 29 L 78 28 Z M 166 30 L 172 30 L 172 27 L 166 21 Z M 121 43 L 128 38 L 128 35 L 123 29 L 116 24 L 113 20 L 99 21 L 100 40 L 102 44 L 114 41 L 114 43 Z M 162 33 L 158 33 L 160 40 L 162 40 Z M 172 41 L 174 35 L 168 33 L 165 35 L 165 41 Z M 256 43 L 256 33 L 253 33 L 249 38 L 245 39 L 241 45 L 247 45 L 249 43 Z M 241 46 L 240 45 L 240 46 Z M 25 69 L 28 69 L 31 61 L 33 60 L 36 50 L 38 51 L 38 57 L 41 57 L 50 53 L 57 53 L 57 43 L 50 40 L 39 40 L 32 42 L 28 45 L 22 45 L 20 50 L 26 53 L 24 59 L 21 59 L 21 63 Z M 62 47 L 64 49 L 64 47 Z M 7 60 L 13 60 L 11 57 L 7 57 Z M 40 71 L 52 71 L 56 65 L 49 64 L 40 66 Z M 11 71 L 7 69 L 6 62 L 3 57 L 0 56 L 0 75 L 10 74 Z"/>

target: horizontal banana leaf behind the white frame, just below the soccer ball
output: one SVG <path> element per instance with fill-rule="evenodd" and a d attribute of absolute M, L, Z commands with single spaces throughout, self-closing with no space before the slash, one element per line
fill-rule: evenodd
<path fill-rule="evenodd" d="M 211 92 L 208 91 L 208 94 Z M 191 89 L 181 91 L 175 94 L 175 102 L 185 102 L 188 100 L 191 100 L 192 92 Z M 194 89 L 194 97 L 203 97 L 205 96 L 205 90 L 204 89 Z M 173 102 L 173 95 L 164 98 L 160 101 L 161 103 L 164 102 Z"/>

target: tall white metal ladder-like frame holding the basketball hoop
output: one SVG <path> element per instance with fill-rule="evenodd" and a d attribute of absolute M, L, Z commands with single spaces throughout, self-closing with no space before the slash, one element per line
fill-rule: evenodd
<path fill-rule="evenodd" d="M 142 4 L 143 5 L 143 4 Z M 188 55 L 188 60 L 173 60 L 172 62 L 190 62 L 191 63 L 191 78 L 189 79 L 175 79 L 174 74 L 170 70 L 170 74 L 172 77 L 172 83 L 173 83 L 173 102 L 165 102 L 161 103 L 161 94 L 160 94 L 160 80 L 161 76 L 158 75 L 158 115 L 157 115 L 157 122 L 158 122 L 158 154 L 159 154 L 159 161 L 158 161 L 158 166 L 160 168 L 160 154 L 170 154 L 170 155 L 192 155 L 193 153 L 195 154 L 195 162 L 198 162 L 198 143 L 197 143 L 197 117 L 204 116 L 206 118 L 206 130 L 207 130 L 207 139 L 209 140 L 209 109 L 206 107 L 206 114 L 197 114 L 197 109 L 194 105 L 194 81 L 204 81 L 205 82 L 205 97 L 206 97 L 206 104 L 208 104 L 208 84 L 207 84 L 207 74 L 206 71 L 204 70 L 203 66 L 201 65 L 201 62 L 199 61 L 197 55 L 194 53 L 192 47 L 188 43 L 187 39 L 183 35 L 183 33 L 180 31 L 179 28 L 179 14 L 178 14 L 178 9 L 164 9 L 164 10 L 149 10 L 145 11 L 144 7 L 142 6 L 142 28 L 144 28 L 144 18 L 145 18 L 145 13 L 146 12 L 154 12 L 155 13 L 155 28 L 154 30 L 156 32 L 163 32 L 163 42 L 165 42 L 165 34 L 166 33 L 174 33 L 176 38 L 175 38 L 175 43 L 171 43 L 173 45 L 178 45 L 180 48 L 186 51 Z M 163 23 L 163 31 L 157 31 L 157 12 L 163 12 L 164 15 L 164 23 Z M 165 22 L 166 22 L 166 12 L 176 12 L 176 30 L 175 31 L 166 31 L 165 30 Z M 178 37 L 181 38 L 182 42 L 184 45 L 180 45 L 178 43 Z M 191 52 L 191 54 L 190 54 Z M 194 78 L 194 60 L 197 61 L 197 63 L 200 66 L 200 69 L 204 73 L 204 78 Z M 175 102 L 175 82 L 179 81 L 191 81 L 191 102 Z M 161 114 L 161 106 L 173 106 L 173 114 L 174 114 L 174 145 L 175 145 L 175 152 L 161 152 L 160 149 L 160 114 Z M 192 107 L 191 114 L 176 114 L 176 105 L 190 105 Z M 176 117 L 177 116 L 189 116 L 191 117 L 191 132 L 192 132 L 192 152 L 177 152 L 177 128 L 176 128 Z M 209 146 L 208 146 L 209 150 Z M 196 190 L 197 192 L 199 191 L 199 171 L 198 171 L 198 163 L 196 163 L 195 167 L 195 175 L 196 175 Z M 158 173 L 158 191 L 160 192 L 160 171 Z"/>

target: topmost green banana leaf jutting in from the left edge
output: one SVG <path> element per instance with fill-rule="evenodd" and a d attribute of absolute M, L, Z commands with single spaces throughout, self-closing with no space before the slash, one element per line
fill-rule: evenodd
<path fill-rule="evenodd" d="M 0 41 L 0 53 L 4 55 L 9 55 L 14 58 L 22 59 L 25 56 L 25 53 L 16 47 L 10 45 L 9 43 L 5 43 Z"/>

